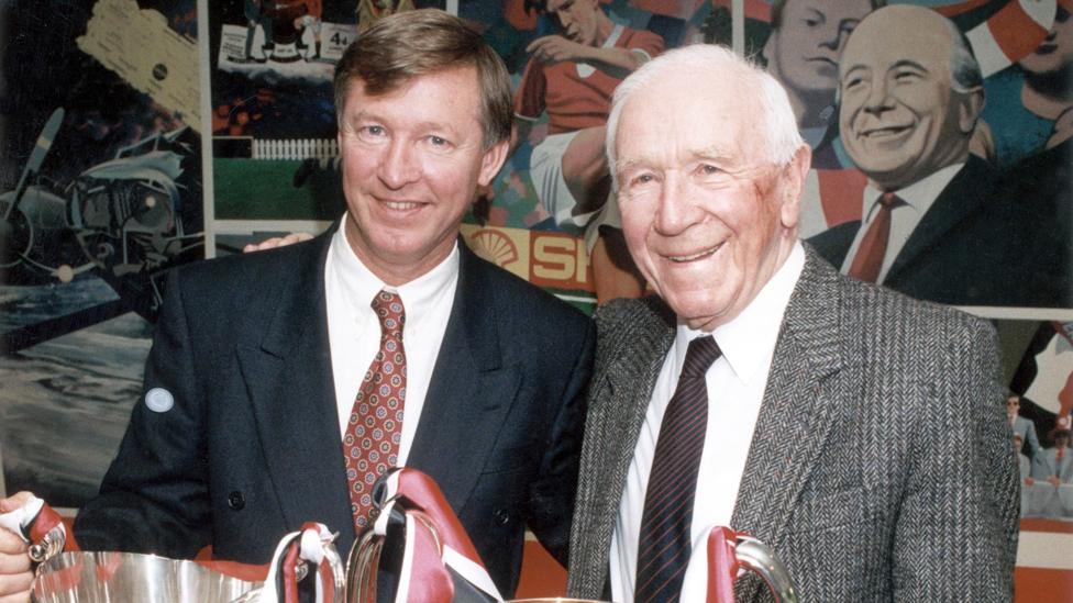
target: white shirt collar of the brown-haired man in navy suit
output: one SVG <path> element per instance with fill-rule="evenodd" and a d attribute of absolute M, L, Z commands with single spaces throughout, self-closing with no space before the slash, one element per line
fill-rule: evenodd
<path fill-rule="evenodd" d="M 345 230 L 349 227 L 352 226 L 350 226 L 347 216 L 344 215 L 342 224 L 332 236 L 329 253 L 332 255 L 332 260 L 339 271 L 339 283 L 343 290 L 344 299 L 347 300 L 354 311 L 370 311 L 373 298 L 378 292 L 381 290 L 394 291 L 402 299 L 409 324 L 412 323 L 413 319 L 424 314 L 424 312 L 413 312 L 414 310 L 435 303 L 451 283 L 458 278 L 461 255 L 458 244 L 455 242 L 447 257 L 428 272 L 399 287 L 388 286 L 358 259 L 350 242 L 346 241 Z"/>

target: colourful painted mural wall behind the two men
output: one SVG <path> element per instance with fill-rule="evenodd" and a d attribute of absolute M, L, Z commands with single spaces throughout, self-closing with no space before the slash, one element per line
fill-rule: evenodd
<path fill-rule="evenodd" d="M 880 211 L 884 161 L 927 166 L 966 148 L 942 174 L 905 171 L 891 215 L 918 215 L 874 278 L 995 321 L 1025 526 L 1073 533 L 1073 451 L 1062 447 L 1073 407 L 1073 2 L 908 2 L 947 15 L 972 48 L 980 79 L 962 82 L 964 102 L 920 93 L 921 66 L 960 59 L 911 43 L 911 22 L 853 41 L 884 3 L 0 3 L 0 491 L 69 506 L 92 495 L 140 397 L 161 272 L 336 219 L 334 63 L 376 19 L 431 5 L 480 31 L 515 87 L 511 153 L 477 191 L 468 243 L 586 310 L 645 289 L 601 145 L 616 86 L 668 48 L 738 43 L 783 82 L 814 149 L 801 236 L 843 271 Z M 906 120 L 880 129 L 866 115 Z M 956 119 L 921 143 L 929 115 Z"/>

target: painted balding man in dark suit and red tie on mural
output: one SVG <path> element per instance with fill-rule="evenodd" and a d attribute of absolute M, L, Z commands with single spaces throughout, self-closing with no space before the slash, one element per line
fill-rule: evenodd
<path fill-rule="evenodd" d="M 862 220 L 810 242 L 842 271 L 959 305 L 1053 305 L 1036 279 L 1031 209 L 997 194 L 998 174 L 969 147 L 984 104 L 980 66 L 936 11 L 866 16 L 839 64 L 840 131 L 869 178 Z"/>

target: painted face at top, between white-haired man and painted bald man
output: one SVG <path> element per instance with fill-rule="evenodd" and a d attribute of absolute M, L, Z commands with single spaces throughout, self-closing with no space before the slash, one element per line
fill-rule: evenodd
<path fill-rule="evenodd" d="M 787 88 L 832 101 L 845 40 L 871 11 L 870 0 L 789 0 L 764 48 L 768 70 Z"/>

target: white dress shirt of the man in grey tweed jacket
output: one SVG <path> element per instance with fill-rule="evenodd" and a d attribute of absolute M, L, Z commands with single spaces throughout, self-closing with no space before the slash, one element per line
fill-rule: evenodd
<path fill-rule="evenodd" d="M 805 249 L 797 243 L 756 299 L 734 320 L 711 333 L 722 356 L 705 375 L 708 384 L 708 428 L 697 477 L 692 541 L 712 525 L 730 525 L 753 428 L 767 386 L 778 330 L 804 266 Z M 707 333 L 678 324 L 633 450 L 611 536 L 611 594 L 615 601 L 621 603 L 633 601 L 641 514 L 663 413 L 677 386 L 689 342 Z"/>

